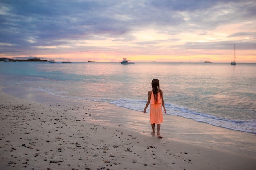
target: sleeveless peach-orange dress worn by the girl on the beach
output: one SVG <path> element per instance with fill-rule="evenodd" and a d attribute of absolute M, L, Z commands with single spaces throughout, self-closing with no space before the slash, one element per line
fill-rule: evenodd
<path fill-rule="evenodd" d="M 163 111 L 162 111 L 162 97 L 160 92 L 157 93 L 157 103 L 155 103 L 154 93 L 151 91 L 150 101 L 150 123 L 160 124 L 163 123 Z"/>

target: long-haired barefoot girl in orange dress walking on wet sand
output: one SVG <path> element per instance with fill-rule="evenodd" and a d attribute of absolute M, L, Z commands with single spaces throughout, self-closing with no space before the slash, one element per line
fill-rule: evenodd
<path fill-rule="evenodd" d="M 144 108 L 143 113 L 146 113 L 146 110 L 148 108 L 148 105 L 150 104 L 150 123 L 152 126 L 152 135 L 155 135 L 155 124 L 157 124 L 157 136 L 159 138 L 162 138 L 160 135 L 160 127 L 161 123 L 163 122 L 163 111 L 162 111 L 162 105 L 164 107 L 164 99 L 163 99 L 163 91 L 160 89 L 160 84 L 158 79 L 152 80 L 152 90 L 148 91 L 148 102 L 146 104 L 146 107 Z M 166 113 L 165 107 L 164 107 L 164 113 Z"/>

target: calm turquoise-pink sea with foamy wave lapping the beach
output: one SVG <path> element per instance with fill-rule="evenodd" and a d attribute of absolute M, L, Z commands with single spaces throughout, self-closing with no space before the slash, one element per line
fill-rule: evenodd
<path fill-rule="evenodd" d="M 141 112 L 155 78 L 167 114 L 256 134 L 256 64 L 0 62 L 0 86 L 29 87 Z"/>

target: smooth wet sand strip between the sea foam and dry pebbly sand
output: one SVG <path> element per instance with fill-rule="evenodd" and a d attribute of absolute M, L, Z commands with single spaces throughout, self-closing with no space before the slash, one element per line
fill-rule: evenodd
<path fill-rule="evenodd" d="M 54 96 L 32 88 L 13 88 L 5 86 L 2 90 L 14 97 L 46 104 L 48 106 L 58 105 L 58 107 L 62 107 L 62 109 L 65 109 L 67 104 L 69 107 L 74 106 L 74 108 L 72 108 L 73 114 L 79 117 L 86 117 L 85 112 L 81 111 L 81 108 L 84 105 L 89 105 L 91 107 L 90 112 L 94 115 L 93 117 L 87 117 L 91 122 L 93 121 L 99 124 L 106 123 L 108 126 L 121 123 L 130 130 L 151 133 L 149 113 L 142 114 L 142 112 L 116 106 L 108 102 L 95 102 L 91 100 Z M 104 113 L 102 110 L 104 110 Z M 167 138 L 218 150 L 225 150 L 239 155 L 249 155 L 249 157 L 256 153 L 256 148 L 254 147 L 256 134 L 214 126 L 176 115 L 164 114 L 163 116 L 164 123 L 161 124 L 161 134 L 164 133 Z"/>

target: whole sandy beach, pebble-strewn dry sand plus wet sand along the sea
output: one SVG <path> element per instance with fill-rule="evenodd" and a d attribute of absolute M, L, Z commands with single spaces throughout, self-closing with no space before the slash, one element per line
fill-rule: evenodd
<path fill-rule="evenodd" d="M 150 135 L 147 114 L 109 103 L 85 101 L 79 104 L 74 99 L 62 99 L 58 103 L 47 99 L 35 102 L 33 98 L 21 99 L 3 91 L 0 91 L 0 101 L 0 170 L 256 168 L 256 146 L 250 146 L 251 152 L 243 152 L 231 146 L 225 149 L 218 144 L 211 145 L 221 143 L 220 140 L 209 139 L 209 146 L 201 144 L 200 140 L 192 141 L 190 130 L 202 128 L 211 136 L 213 131 L 221 135 L 222 130 L 226 133 L 227 129 L 216 130 L 219 127 L 182 117 L 166 120 L 164 116 L 163 138 L 159 139 Z M 176 128 L 171 135 L 167 133 L 170 126 L 174 129 L 181 125 L 180 130 Z M 230 132 L 234 136 L 242 134 Z M 198 134 L 194 137 L 200 137 Z M 255 139 L 254 134 L 243 135 L 252 137 L 248 142 Z M 182 140 L 185 138 L 187 140 Z"/>

